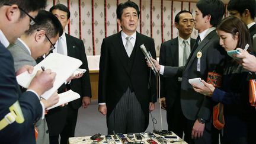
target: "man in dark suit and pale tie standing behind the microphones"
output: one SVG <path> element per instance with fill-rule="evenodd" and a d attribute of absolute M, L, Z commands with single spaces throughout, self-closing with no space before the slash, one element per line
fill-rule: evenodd
<path fill-rule="evenodd" d="M 165 66 L 184 66 L 191 49 L 196 42 L 190 35 L 194 27 L 194 18 L 189 11 L 180 11 L 175 16 L 178 37 L 161 44 L 159 64 Z M 168 131 L 183 137 L 185 131 L 184 116 L 180 105 L 181 77 L 161 78 L 161 107 L 167 110 Z M 186 140 L 186 139 L 185 139 Z"/>

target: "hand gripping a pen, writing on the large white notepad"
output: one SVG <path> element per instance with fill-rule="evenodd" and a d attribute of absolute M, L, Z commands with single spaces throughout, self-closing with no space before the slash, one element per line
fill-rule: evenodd
<path fill-rule="evenodd" d="M 35 91 L 39 96 L 53 87 L 56 73 L 50 69 L 46 71 L 37 71 L 36 76 L 32 79 L 28 89 Z"/>

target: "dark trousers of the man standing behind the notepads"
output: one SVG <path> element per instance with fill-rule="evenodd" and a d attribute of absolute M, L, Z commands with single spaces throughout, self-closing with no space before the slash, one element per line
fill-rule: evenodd
<path fill-rule="evenodd" d="M 75 127 L 76 120 L 78 117 L 78 109 L 73 109 L 70 105 L 66 105 L 67 108 L 67 117 L 66 123 L 63 127 L 62 132 L 59 135 L 50 136 L 50 144 L 59 144 L 59 136 L 60 136 L 60 144 L 67 144 L 69 137 L 75 136 Z"/>

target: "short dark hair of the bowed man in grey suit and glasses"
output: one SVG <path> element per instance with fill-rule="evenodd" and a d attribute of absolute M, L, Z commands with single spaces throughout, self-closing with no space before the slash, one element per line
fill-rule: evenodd
<path fill-rule="evenodd" d="M 27 34 L 28 36 L 30 34 L 33 34 L 37 30 L 46 31 L 46 35 L 49 37 L 49 39 L 51 39 L 52 37 L 56 37 L 57 34 L 59 34 L 59 36 L 62 36 L 62 24 L 51 12 L 46 10 L 40 10 L 35 20 L 36 23 L 30 25 L 30 28 L 25 31 L 25 34 Z"/>

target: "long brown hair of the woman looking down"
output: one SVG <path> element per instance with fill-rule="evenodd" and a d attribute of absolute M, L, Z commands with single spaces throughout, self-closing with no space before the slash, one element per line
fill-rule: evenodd
<path fill-rule="evenodd" d="M 235 34 L 238 33 L 238 44 L 236 47 L 244 49 L 245 45 L 248 43 L 249 50 L 252 49 L 248 27 L 244 21 L 240 20 L 240 18 L 235 16 L 226 17 L 220 22 L 219 25 L 217 25 L 216 29 L 230 33 L 233 37 L 235 37 Z"/>

